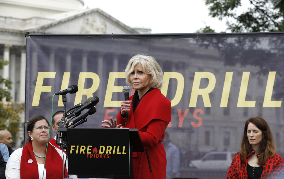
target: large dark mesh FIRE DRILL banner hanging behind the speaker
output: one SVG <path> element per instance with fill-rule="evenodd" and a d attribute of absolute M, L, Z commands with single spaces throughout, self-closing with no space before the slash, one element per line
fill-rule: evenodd
<path fill-rule="evenodd" d="M 51 121 L 53 94 L 75 84 L 79 91 L 66 95 L 67 109 L 100 99 L 97 112 L 77 128 L 101 128 L 124 100 L 128 60 L 146 53 L 164 72 L 161 92 L 172 103 L 166 131 L 180 153 L 179 176 L 225 176 L 250 117 L 268 122 L 277 152 L 284 153 L 283 41 L 281 33 L 30 34 L 25 120 L 43 115 Z M 54 112 L 63 110 L 61 95 L 53 105 Z"/>

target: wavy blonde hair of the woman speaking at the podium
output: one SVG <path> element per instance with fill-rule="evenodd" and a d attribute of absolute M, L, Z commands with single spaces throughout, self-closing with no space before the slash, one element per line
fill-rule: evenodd
<path fill-rule="evenodd" d="M 125 68 L 125 82 L 132 87 L 132 83 L 130 81 L 130 73 L 133 72 L 134 67 L 137 64 L 141 64 L 143 72 L 149 74 L 151 79 L 149 81 L 150 88 L 159 88 L 163 87 L 163 71 L 156 61 L 156 59 L 152 56 L 146 56 L 143 54 L 137 54 L 133 56 L 129 61 Z"/>

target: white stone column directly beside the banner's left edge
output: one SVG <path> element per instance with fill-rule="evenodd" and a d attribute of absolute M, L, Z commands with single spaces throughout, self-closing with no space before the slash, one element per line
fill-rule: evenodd
<path fill-rule="evenodd" d="M 21 49 L 21 70 L 20 70 L 20 94 L 19 102 L 25 102 L 25 86 L 26 86 L 26 48 Z"/>

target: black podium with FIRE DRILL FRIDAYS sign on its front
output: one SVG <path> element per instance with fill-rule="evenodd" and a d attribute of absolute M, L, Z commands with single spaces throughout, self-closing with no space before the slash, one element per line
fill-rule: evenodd
<path fill-rule="evenodd" d="M 137 129 L 67 128 L 68 174 L 132 178 L 132 152 L 143 152 Z"/>

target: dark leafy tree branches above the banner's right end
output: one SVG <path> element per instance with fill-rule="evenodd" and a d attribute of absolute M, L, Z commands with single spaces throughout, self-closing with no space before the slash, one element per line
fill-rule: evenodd
<path fill-rule="evenodd" d="M 250 0 L 250 7 L 241 14 L 241 0 L 206 0 L 209 15 L 226 19 L 227 30 L 232 32 L 284 31 L 284 0 Z M 230 21 L 235 20 L 235 22 Z"/>

